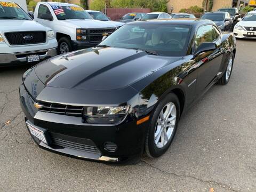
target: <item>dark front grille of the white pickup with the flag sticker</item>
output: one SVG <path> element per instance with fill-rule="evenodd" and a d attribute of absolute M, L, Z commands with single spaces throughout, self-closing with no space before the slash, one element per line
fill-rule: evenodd
<path fill-rule="evenodd" d="M 107 36 L 112 34 L 116 29 L 89 29 L 89 41 L 92 43 L 99 43 L 102 41 L 103 34 L 106 33 Z"/>

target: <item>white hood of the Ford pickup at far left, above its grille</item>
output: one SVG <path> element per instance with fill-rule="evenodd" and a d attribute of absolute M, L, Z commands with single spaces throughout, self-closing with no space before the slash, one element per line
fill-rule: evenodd
<path fill-rule="evenodd" d="M 46 30 L 46 27 L 33 20 L 1 20 L 0 31 L 3 33 L 10 31 L 38 31 Z"/>

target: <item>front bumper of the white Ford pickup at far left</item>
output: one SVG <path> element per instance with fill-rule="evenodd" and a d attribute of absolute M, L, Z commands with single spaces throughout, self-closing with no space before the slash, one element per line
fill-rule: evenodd
<path fill-rule="evenodd" d="M 17 66 L 27 63 L 27 55 L 38 54 L 40 61 L 54 57 L 57 55 L 57 47 L 47 50 L 27 51 L 18 53 L 2 53 L 0 54 L 0 67 L 1 66 Z M 37 61 L 37 62 L 40 62 Z M 34 63 L 34 62 L 32 62 Z"/>

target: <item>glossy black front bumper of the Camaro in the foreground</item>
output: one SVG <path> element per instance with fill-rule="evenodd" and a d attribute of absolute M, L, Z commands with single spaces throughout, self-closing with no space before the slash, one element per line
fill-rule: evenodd
<path fill-rule="evenodd" d="M 88 125 L 82 122 L 81 117 L 37 111 L 24 85 L 20 86 L 20 104 L 26 123 L 45 130 L 49 135 L 49 145 L 31 135 L 43 149 L 105 162 L 129 161 L 143 152 L 147 122 L 137 125 L 136 119 L 127 119 L 118 125 Z M 114 152 L 106 150 L 106 142 L 115 143 L 117 149 Z M 84 145 L 95 150 L 87 150 Z"/>

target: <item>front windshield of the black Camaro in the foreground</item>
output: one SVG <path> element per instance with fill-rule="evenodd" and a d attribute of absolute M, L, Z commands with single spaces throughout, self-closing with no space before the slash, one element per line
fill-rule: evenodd
<path fill-rule="evenodd" d="M 186 25 L 124 25 L 102 41 L 102 47 L 138 49 L 165 56 L 186 55 L 189 26 Z"/>

